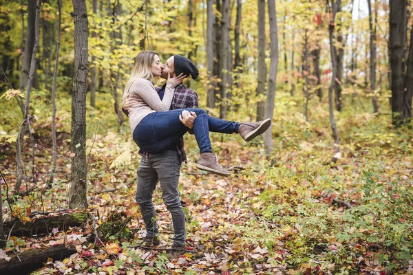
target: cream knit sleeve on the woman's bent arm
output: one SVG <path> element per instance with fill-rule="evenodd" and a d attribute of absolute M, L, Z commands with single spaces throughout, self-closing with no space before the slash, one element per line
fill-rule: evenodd
<path fill-rule="evenodd" d="M 165 87 L 165 95 L 160 100 L 158 93 L 152 83 L 146 79 L 138 79 L 131 87 L 131 96 L 140 96 L 154 111 L 168 111 L 173 98 L 173 88 L 169 85 Z"/>

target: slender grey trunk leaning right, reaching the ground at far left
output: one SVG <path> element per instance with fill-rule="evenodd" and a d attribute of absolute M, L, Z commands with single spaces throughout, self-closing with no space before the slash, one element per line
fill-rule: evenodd
<path fill-rule="evenodd" d="M 30 1 L 29 1 L 30 2 Z M 17 180 L 16 180 L 16 186 L 15 190 L 19 192 L 21 182 L 23 179 L 23 170 L 21 168 L 21 151 L 23 148 L 23 137 L 25 135 L 26 129 L 29 129 L 30 131 L 30 115 L 29 115 L 29 104 L 30 104 L 30 92 L 32 91 L 32 83 L 33 83 L 33 78 L 34 75 L 36 74 L 36 54 L 37 51 L 39 50 L 39 18 L 40 18 L 40 8 L 41 8 L 41 0 L 39 0 L 39 3 L 36 3 L 36 10 L 35 10 L 35 15 L 34 15 L 34 45 L 32 47 L 33 52 L 30 53 L 31 56 L 31 61 L 30 65 L 28 66 L 30 68 L 30 72 L 28 75 L 28 83 L 27 83 L 27 91 L 26 91 L 26 96 L 25 96 L 25 104 L 23 108 L 23 122 L 21 123 L 21 129 L 19 131 L 19 135 L 17 135 L 17 150 L 16 150 L 16 174 L 17 174 Z M 26 47 L 28 47 L 26 43 Z M 22 77 L 23 77 L 23 72 L 22 72 Z M 27 128 L 26 128 L 27 125 Z M 30 132 L 29 132 L 30 133 Z M 30 133 L 31 134 L 31 133 Z M 34 154 L 33 154 L 33 161 L 34 161 Z"/>

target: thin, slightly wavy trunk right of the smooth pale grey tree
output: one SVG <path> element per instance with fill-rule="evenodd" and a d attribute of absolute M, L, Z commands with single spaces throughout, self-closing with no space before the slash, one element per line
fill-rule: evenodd
<path fill-rule="evenodd" d="M 332 76 L 331 76 L 331 83 L 330 87 L 328 88 L 328 109 L 330 112 L 330 124 L 331 124 L 331 131 L 332 137 L 334 139 L 334 146 L 335 146 L 335 153 L 339 153 L 339 135 L 337 133 L 337 126 L 334 118 L 334 102 L 332 100 L 332 93 L 335 91 L 336 86 L 336 78 L 337 78 L 337 59 L 336 59 L 336 52 L 334 46 L 334 30 L 335 30 L 335 16 L 337 13 L 337 3 L 334 3 L 332 0 L 332 17 L 330 21 L 330 25 L 328 25 L 328 36 L 330 40 L 330 56 L 331 56 L 331 64 L 332 64 Z M 336 155 L 330 159 L 330 162 L 337 162 Z"/>

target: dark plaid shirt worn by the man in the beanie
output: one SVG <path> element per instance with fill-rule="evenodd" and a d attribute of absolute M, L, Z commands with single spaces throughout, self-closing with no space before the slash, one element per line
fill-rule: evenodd
<path fill-rule="evenodd" d="M 158 91 L 158 94 L 160 94 L 162 98 L 163 93 L 165 92 L 165 85 L 156 88 L 156 91 Z M 198 109 L 198 95 L 195 91 L 191 91 L 182 83 L 175 87 L 175 91 L 173 93 L 171 110 L 176 109 Z M 180 138 L 180 144 L 176 146 L 176 151 L 178 152 L 180 162 L 188 162 L 187 154 L 184 151 L 184 137 Z M 145 152 L 142 149 L 139 149 L 138 153 L 139 155 L 149 155 L 148 152 Z"/>

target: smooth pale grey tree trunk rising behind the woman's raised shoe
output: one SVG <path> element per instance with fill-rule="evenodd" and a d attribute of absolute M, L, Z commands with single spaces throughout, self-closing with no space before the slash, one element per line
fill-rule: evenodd
<path fill-rule="evenodd" d="M 277 84 L 277 68 L 278 68 L 278 30 L 277 30 L 277 13 L 275 9 L 275 0 L 268 0 L 268 18 L 270 19 L 270 49 L 271 49 L 271 64 L 270 73 L 268 75 L 268 91 L 266 98 L 265 118 L 273 120 L 274 115 L 274 99 L 275 87 Z M 264 148 L 269 156 L 273 152 L 273 125 L 264 132 Z"/>

